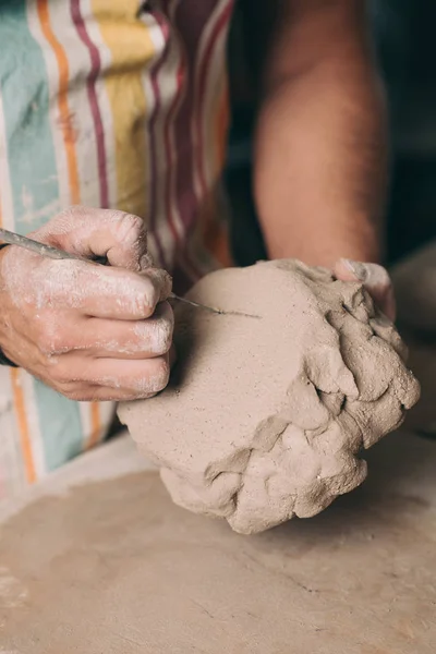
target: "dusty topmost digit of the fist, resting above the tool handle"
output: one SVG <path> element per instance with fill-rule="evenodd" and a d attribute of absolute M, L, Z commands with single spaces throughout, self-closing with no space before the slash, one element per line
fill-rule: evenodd
<path fill-rule="evenodd" d="M 106 256 L 111 266 L 129 270 L 153 265 L 144 220 L 124 211 L 70 207 L 35 238 L 78 256 Z"/>

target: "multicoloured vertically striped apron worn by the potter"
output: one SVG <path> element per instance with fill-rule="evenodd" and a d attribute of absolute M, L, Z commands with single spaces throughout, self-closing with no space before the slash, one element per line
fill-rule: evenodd
<path fill-rule="evenodd" d="M 70 205 L 118 208 L 144 218 L 175 291 L 230 265 L 232 4 L 3 0 L 0 226 L 26 234 Z M 0 499 L 100 443 L 113 413 L 0 367 Z"/>

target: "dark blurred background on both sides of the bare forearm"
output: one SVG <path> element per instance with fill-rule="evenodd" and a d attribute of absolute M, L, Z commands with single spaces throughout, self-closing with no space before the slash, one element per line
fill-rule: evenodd
<path fill-rule="evenodd" d="M 258 8 L 262 4 L 262 16 Z M 272 4 L 272 3 L 269 3 Z M 238 265 L 265 256 L 251 194 L 256 71 L 268 3 L 238 0 L 229 40 L 232 129 L 227 187 Z M 388 263 L 436 238 L 436 2 L 372 0 L 371 23 L 391 116 Z"/>

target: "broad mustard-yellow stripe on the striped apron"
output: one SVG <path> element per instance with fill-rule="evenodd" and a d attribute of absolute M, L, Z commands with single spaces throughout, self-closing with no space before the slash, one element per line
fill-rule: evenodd
<path fill-rule="evenodd" d="M 112 113 L 117 167 L 117 208 L 146 217 L 147 101 L 143 75 L 155 55 L 149 29 L 136 19 L 137 0 L 92 0 L 101 37 L 110 50 L 105 76 Z"/>

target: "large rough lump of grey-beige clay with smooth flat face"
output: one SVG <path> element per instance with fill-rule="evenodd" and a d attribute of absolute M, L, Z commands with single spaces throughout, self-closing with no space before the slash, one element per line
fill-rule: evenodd
<path fill-rule="evenodd" d="M 250 534 L 361 484 L 362 448 L 420 393 L 362 286 L 281 261 L 214 272 L 187 298 L 258 317 L 179 305 L 170 386 L 120 407 L 173 500 Z"/>

